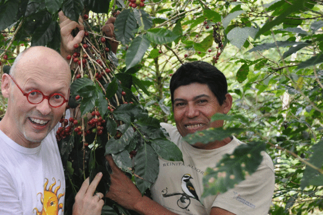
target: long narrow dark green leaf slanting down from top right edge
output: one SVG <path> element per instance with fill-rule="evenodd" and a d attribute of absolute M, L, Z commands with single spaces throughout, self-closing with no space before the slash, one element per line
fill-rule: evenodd
<path fill-rule="evenodd" d="M 255 38 L 259 37 L 264 32 L 270 30 L 273 26 L 281 24 L 284 19 L 293 12 L 298 12 L 304 8 L 304 0 L 294 1 L 293 4 L 288 6 L 283 12 L 281 12 L 275 19 L 267 21 L 257 32 Z"/>

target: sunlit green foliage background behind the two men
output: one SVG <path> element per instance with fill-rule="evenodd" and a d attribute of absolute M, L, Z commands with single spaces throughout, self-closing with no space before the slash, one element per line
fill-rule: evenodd
<path fill-rule="evenodd" d="M 226 127 L 245 128 L 237 137 L 245 142 L 266 143 L 266 151 L 274 161 L 276 188 L 269 213 L 320 214 L 323 209 L 322 2 L 146 0 L 144 3 L 140 10 L 133 10 L 129 1 L 122 0 L 1 0 L 2 72 L 30 45 L 59 49 L 60 8 L 74 20 L 88 12 L 84 7 L 90 9 L 88 23 L 98 34 L 92 39 L 97 40 L 102 35 L 100 28 L 104 21 L 112 16 L 111 11 L 117 8 L 127 11 L 123 17 L 137 15 L 139 19 L 135 18 L 132 26 L 122 24 L 121 18 L 116 20 L 115 27 L 125 33 L 116 32 L 122 43 L 116 55 L 111 53 L 115 56 L 111 61 L 117 65 L 113 67 L 116 74 L 136 64 L 140 66 L 132 73 L 139 81 L 132 82 L 127 91 L 131 90 L 137 104 L 148 110 L 149 116 L 174 123 L 168 89 L 171 74 L 187 61 L 215 64 L 227 76 L 229 92 L 234 97 L 230 115 L 242 115 L 247 120 L 229 118 Z M 117 27 L 118 21 L 121 28 Z M 124 36 L 126 33 L 129 36 Z M 141 51 L 136 51 L 139 47 Z M 219 59 L 214 59 L 218 53 L 221 53 Z M 8 60 L 3 59 L 5 54 Z M 2 98 L 1 103 L 4 113 L 6 100 Z M 122 209 L 118 211 L 121 213 Z M 115 213 L 106 207 L 103 214 Z"/>

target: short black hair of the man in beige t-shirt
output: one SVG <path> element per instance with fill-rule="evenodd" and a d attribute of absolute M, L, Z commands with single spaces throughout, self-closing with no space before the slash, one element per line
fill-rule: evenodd
<path fill-rule="evenodd" d="M 195 82 L 208 84 L 219 104 L 223 104 L 228 93 L 227 79 L 217 67 L 204 61 L 184 63 L 172 75 L 170 83 L 172 103 L 174 104 L 175 89 Z"/>

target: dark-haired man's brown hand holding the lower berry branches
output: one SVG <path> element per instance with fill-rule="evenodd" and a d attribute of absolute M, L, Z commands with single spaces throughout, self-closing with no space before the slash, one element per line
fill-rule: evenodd
<path fill-rule="evenodd" d="M 109 192 L 105 196 L 127 209 L 135 210 L 136 203 L 142 200 L 140 191 L 114 163 L 111 155 L 106 155 L 105 158 L 112 169 Z"/>

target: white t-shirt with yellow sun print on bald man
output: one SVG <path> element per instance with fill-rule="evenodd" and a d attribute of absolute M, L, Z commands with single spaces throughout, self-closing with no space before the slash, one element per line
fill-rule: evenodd
<path fill-rule="evenodd" d="M 65 177 L 55 131 L 36 148 L 0 130 L 0 214 L 64 214 Z"/>

